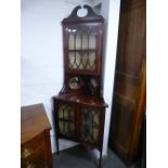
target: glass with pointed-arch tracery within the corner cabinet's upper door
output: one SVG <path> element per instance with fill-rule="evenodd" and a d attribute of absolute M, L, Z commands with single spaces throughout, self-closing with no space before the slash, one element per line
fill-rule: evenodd
<path fill-rule="evenodd" d="M 70 69 L 86 69 L 94 70 L 96 61 L 96 30 L 92 33 L 88 31 L 87 28 L 69 30 L 69 51 L 68 67 Z M 90 49 L 90 50 L 89 50 Z"/>

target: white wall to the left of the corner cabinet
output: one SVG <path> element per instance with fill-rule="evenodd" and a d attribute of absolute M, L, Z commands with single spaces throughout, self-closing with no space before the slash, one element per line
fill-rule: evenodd
<path fill-rule="evenodd" d="M 70 0 L 22 0 L 21 5 L 21 105 L 43 103 L 52 122 L 51 96 L 63 86 L 63 47 L 61 22 L 78 2 Z M 52 151 L 55 152 L 54 131 L 51 131 Z M 62 140 L 61 150 L 75 143 Z"/>

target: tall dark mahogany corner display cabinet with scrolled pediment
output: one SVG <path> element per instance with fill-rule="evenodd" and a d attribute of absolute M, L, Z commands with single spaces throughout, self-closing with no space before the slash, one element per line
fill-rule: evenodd
<path fill-rule="evenodd" d="M 79 17 L 76 7 L 64 18 L 64 86 L 53 96 L 53 114 L 59 139 L 68 139 L 100 151 L 104 134 L 105 107 L 102 96 L 102 50 L 104 20 L 89 5 L 88 14 Z"/>

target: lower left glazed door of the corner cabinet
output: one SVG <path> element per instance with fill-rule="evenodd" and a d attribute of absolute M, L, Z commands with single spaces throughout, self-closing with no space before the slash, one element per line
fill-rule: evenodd
<path fill-rule="evenodd" d="M 61 138 L 75 139 L 75 106 L 70 103 L 57 103 L 59 135 Z"/>

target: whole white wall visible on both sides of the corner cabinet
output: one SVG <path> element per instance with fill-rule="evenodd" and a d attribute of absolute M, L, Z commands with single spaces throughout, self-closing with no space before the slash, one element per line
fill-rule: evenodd
<path fill-rule="evenodd" d="M 100 1 L 100 0 L 99 0 Z M 63 40 L 62 25 L 77 4 L 94 4 L 96 0 L 22 0 L 22 105 L 43 103 L 52 122 L 51 96 L 56 95 L 63 85 Z M 109 12 L 108 12 L 109 11 Z M 109 107 L 106 111 L 103 154 L 107 151 L 114 67 L 117 42 L 119 0 L 102 0 L 102 15 L 105 17 L 106 56 L 104 72 L 104 99 Z M 52 152 L 55 152 L 54 131 L 51 131 Z M 60 141 L 61 150 L 75 145 Z"/>

